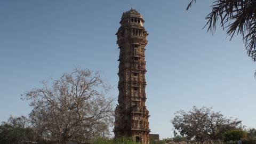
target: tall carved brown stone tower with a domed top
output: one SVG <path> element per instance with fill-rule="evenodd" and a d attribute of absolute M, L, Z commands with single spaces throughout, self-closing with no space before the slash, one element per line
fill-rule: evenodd
<path fill-rule="evenodd" d="M 131 9 L 124 12 L 118 29 L 119 54 L 118 105 L 116 107 L 115 138 L 132 137 L 134 141 L 149 144 L 149 122 L 146 102 L 145 46 L 147 31 L 142 15 Z"/>

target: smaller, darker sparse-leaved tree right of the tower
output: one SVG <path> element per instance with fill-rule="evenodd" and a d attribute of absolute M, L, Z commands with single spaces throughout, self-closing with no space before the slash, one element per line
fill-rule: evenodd
<path fill-rule="evenodd" d="M 212 111 L 212 108 L 195 106 L 187 112 L 177 111 L 171 122 L 182 136 L 199 142 L 221 140 L 222 135 L 228 130 L 243 127 L 242 121 L 226 118 L 219 111 Z"/>

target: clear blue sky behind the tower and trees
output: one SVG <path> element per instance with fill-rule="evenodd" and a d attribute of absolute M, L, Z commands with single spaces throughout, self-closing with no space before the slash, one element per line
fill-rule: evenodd
<path fill-rule="evenodd" d="M 75 67 L 102 70 L 118 90 L 116 31 L 124 11 L 145 18 L 150 129 L 172 137 L 175 111 L 213 107 L 256 127 L 256 69 L 241 37 L 202 29 L 210 1 L 0 1 L 0 121 L 27 115 L 20 94 Z"/>

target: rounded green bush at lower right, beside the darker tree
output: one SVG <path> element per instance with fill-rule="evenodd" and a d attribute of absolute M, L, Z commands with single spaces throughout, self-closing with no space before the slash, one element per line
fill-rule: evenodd
<path fill-rule="evenodd" d="M 224 134 L 224 141 L 236 141 L 238 139 L 246 138 L 246 137 L 247 137 L 247 132 L 243 130 L 239 130 L 239 129 L 230 130 Z"/>

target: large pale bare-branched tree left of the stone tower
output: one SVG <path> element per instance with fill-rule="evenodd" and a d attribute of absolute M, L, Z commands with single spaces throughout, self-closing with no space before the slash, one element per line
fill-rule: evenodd
<path fill-rule="evenodd" d="M 99 73 L 77 68 L 42 84 L 23 94 L 30 100 L 31 124 L 41 139 L 82 142 L 109 134 L 113 98 L 106 96 L 110 86 Z"/>

